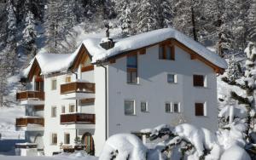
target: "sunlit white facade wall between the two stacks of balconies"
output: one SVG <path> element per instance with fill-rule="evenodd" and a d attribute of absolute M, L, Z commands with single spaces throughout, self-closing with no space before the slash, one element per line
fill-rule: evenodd
<path fill-rule="evenodd" d="M 75 75 L 71 74 L 72 81 L 75 80 Z M 44 153 L 46 156 L 51 156 L 54 151 L 60 150 L 60 143 L 64 143 L 64 134 L 70 134 L 70 142 L 73 145 L 75 138 L 75 129 L 61 129 L 60 115 L 61 106 L 65 106 L 65 112 L 69 112 L 69 105 L 75 105 L 75 100 L 61 100 L 61 84 L 65 83 L 66 75 L 57 77 L 46 77 L 44 78 L 44 92 L 45 92 L 45 103 L 44 103 Z M 57 80 L 57 89 L 51 90 L 51 80 Z M 56 117 L 51 117 L 51 107 L 56 106 Z M 51 145 L 51 134 L 57 134 L 57 145 Z"/>

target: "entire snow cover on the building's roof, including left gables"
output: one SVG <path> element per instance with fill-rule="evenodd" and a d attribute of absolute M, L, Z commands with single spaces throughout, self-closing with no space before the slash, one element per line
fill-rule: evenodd
<path fill-rule="evenodd" d="M 68 68 L 73 65 L 73 61 L 75 60 L 76 55 L 79 54 L 79 49 L 83 44 L 92 57 L 92 63 L 95 63 L 97 60 L 107 60 L 114 55 L 121 54 L 133 49 L 140 49 L 154 43 L 160 43 L 169 38 L 174 38 L 178 42 L 183 43 L 189 49 L 195 51 L 195 53 L 200 54 L 206 60 L 212 62 L 212 64 L 215 66 L 223 69 L 227 67 L 226 61 L 220 58 L 218 54 L 212 53 L 212 51 L 201 45 L 201 43 L 195 42 L 190 37 L 187 37 L 180 31 L 172 28 L 148 31 L 135 36 L 116 40 L 114 47 L 108 50 L 103 49 L 100 46 L 102 38 L 86 38 L 73 54 L 41 53 L 36 55 L 36 59 L 38 60 L 42 74 L 48 74 L 55 71 L 67 71 Z M 26 70 L 29 71 L 29 67 Z M 28 73 L 26 70 L 23 73 L 25 76 Z"/>

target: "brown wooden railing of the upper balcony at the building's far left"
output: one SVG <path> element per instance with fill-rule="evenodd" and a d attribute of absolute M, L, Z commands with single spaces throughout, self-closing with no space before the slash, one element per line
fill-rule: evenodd
<path fill-rule="evenodd" d="M 44 92 L 42 91 L 23 91 L 16 94 L 16 100 L 38 99 L 44 100 Z"/>

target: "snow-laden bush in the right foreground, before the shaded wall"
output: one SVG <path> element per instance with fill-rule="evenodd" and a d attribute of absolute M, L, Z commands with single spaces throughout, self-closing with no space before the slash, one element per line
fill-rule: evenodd
<path fill-rule="evenodd" d="M 218 160 L 228 157 L 230 151 L 236 150 L 237 159 L 250 159 L 243 148 L 246 146 L 246 123 L 231 123 L 230 129 L 219 129 L 212 133 L 208 129 L 197 128 L 183 123 L 172 128 L 166 124 L 155 129 L 143 129 L 143 134 L 150 134 L 153 140 L 168 135 L 169 138 L 148 150 L 148 157 L 154 159 L 189 159 Z M 168 152 L 170 154 L 168 154 Z"/>

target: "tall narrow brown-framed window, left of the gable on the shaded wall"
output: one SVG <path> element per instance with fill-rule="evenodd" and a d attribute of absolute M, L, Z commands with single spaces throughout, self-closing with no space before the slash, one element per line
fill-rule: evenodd
<path fill-rule="evenodd" d="M 127 83 L 137 83 L 137 54 L 127 56 Z"/>

